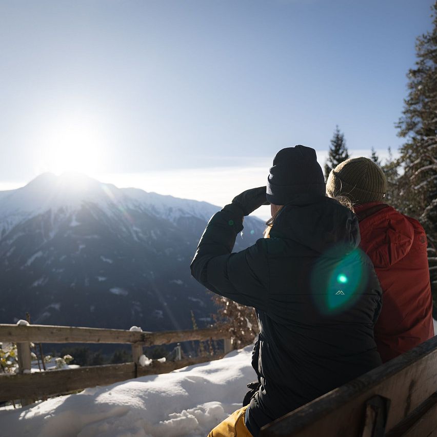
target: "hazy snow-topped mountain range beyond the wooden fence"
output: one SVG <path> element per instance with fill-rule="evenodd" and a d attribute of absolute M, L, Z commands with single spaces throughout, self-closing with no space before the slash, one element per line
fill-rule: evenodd
<path fill-rule="evenodd" d="M 215 308 L 189 265 L 218 210 L 74 173 L 0 191 L 0 323 L 190 329 L 193 311 L 206 326 Z M 244 225 L 235 251 L 265 227 Z"/>

